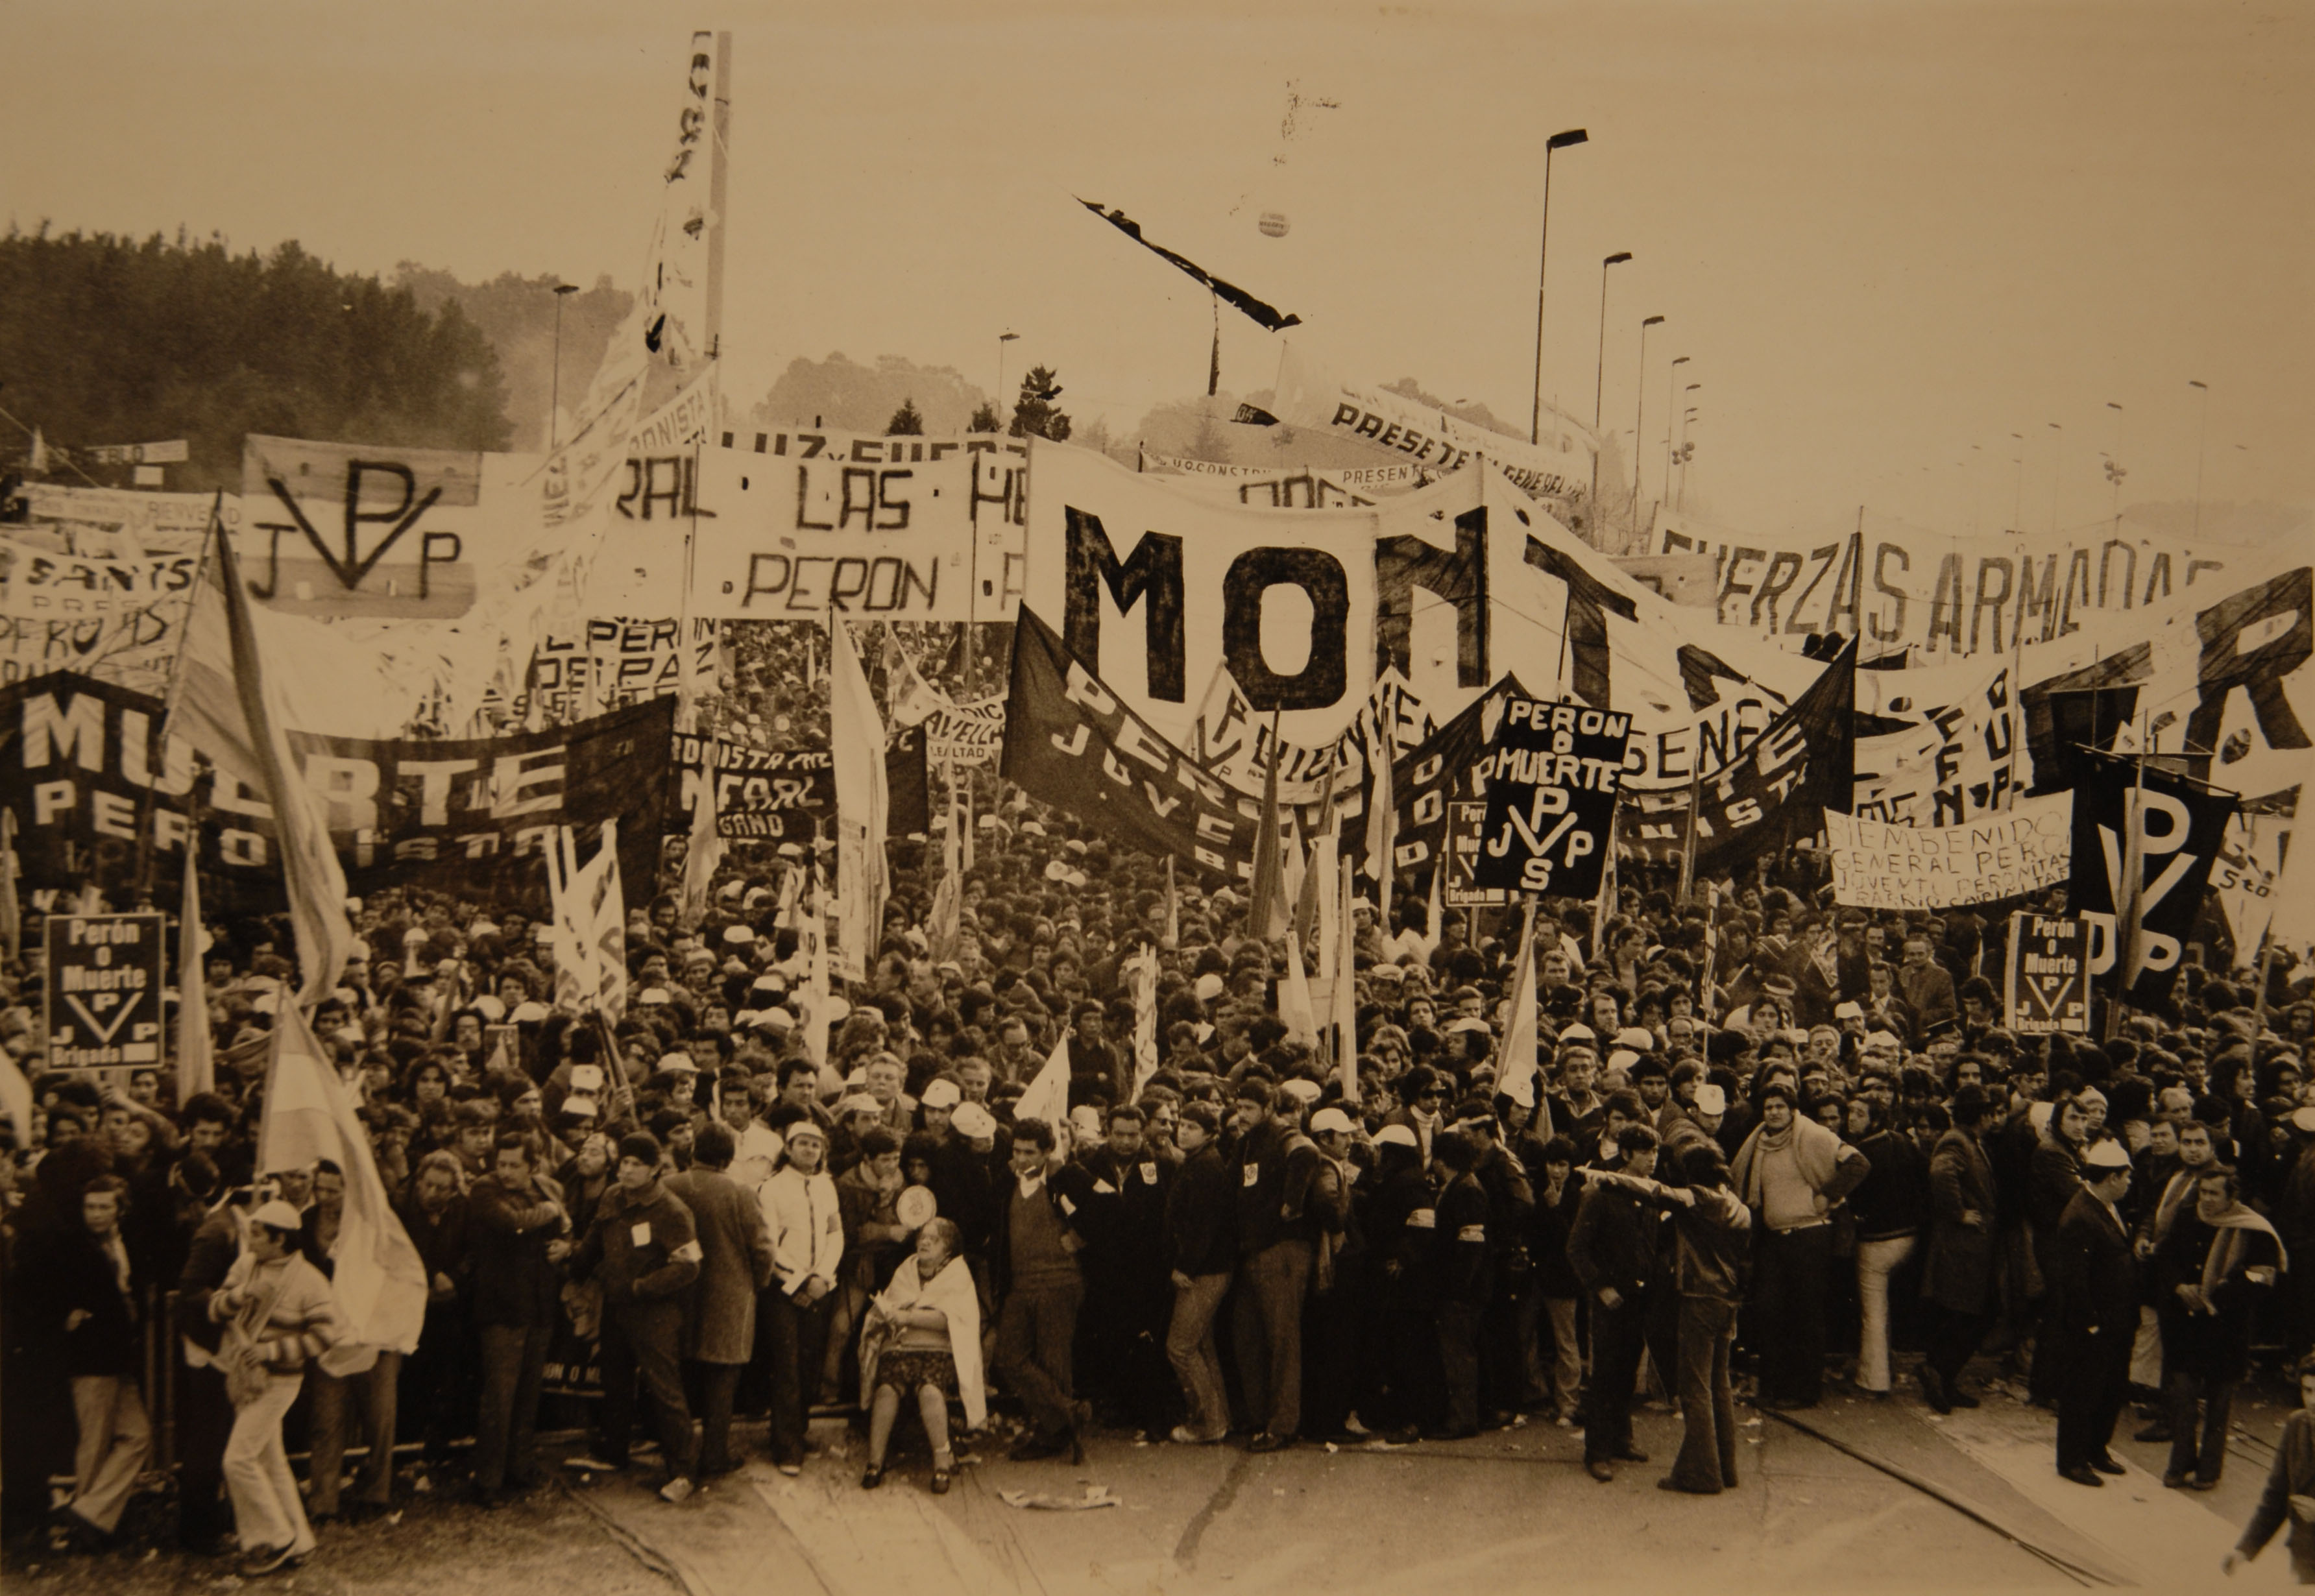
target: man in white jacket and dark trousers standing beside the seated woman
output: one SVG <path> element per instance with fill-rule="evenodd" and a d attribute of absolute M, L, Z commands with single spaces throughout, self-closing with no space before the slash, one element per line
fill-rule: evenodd
<path fill-rule="evenodd" d="M 820 1378 L 829 1348 L 831 1290 L 845 1255 L 845 1225 L 829 1179 L 829 1133 L 799 1117 L 776 1126 L 785 1137 L 780 1167 L 757 1186 L 771 1228 L 771 1286 L 757 1325 L 771 1362 L 771 1462 L 803 1473 L 806 1376 Z"/>

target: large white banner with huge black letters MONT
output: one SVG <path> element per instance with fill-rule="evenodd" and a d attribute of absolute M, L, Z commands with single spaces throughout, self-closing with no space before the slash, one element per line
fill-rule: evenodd
<path fill-rule="evenodd" d="M 1727 762 L 1822 665 L 1630 581 L 1498 470 L 1364 510 L 1252 510 L 1032 445 L 1028 602 L 1178 748 L 1227 667 L 1255 718 L 1331 746 L 1377 674 L 1433 716 L 1489 683 L 1567 683 L 1632 716 L 1630 785 Z"/>

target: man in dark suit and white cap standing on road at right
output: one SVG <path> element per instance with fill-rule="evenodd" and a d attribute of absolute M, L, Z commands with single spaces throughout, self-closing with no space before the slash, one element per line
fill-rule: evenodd
<path fill-rule="evenodd" d="M 2123 1473 L 2107 1450 L 2130 1397 L 2130 1344 L 2139 1332 L 2139 1258 L 2116 1205 L 2130 1191 L 2130 1154 L 2097 1142 L 2084 1158 L 2086 1184 L 2058 1221 L 2058 1473 L 2104 1485 Z"/>

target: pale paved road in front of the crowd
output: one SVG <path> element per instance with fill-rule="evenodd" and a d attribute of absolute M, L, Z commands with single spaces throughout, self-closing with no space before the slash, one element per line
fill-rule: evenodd
<path fill-rule="evenodd" d="M 859 1441 L 840 1425 L 789 1480 L 757 1464 L 683 1508 L 641 1482 L 579 1487 L 660 1550 L 692 1596 L 743 1591 L 1431 1591 L 1664 1587 L 1711 1591 L 2280 1589 L 2269 1550 L 2218 1577 L 2264 1478 L 2259 1436 L 2278 1408 L 2241 1415 L 2246 1438 L 2209 1496 L 2165 1492 L 2162 1448 L 2118 1445 L 2132 1473 L 2090 1492 L 2051 1469 L 2046 1413 L 1991 1394 L 1940 1420 L 1910 1399 L 1833 1397 L 1799 1415 L 1739 1408 L 1743 1487 L 1692 1499 L 1655 1489 L 1678 1448 L 1674 1415 L 1639 1415 L 1655 1464 L 1614 1485 L 1581 1469 L 1574 1432 L 1526 1425 L 1405 1450 L 1234 1448 L 1102 1436 L 1083 1466 L 991 1459 L 949 1496 L 905 1457 L 859 1489 Z M 2125 1420 L 2132 1425 L 2134 1420 Z M 993 1448 L 991 1448 L 993 1452 Z M 1007 1494 L 1118 1506 L 1042 1510 Z"/>

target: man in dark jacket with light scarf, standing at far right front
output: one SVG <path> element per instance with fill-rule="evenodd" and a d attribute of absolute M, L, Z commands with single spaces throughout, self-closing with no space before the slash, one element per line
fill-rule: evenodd
<path fill-rule="evenodd" d="M 2195 1211 L 2178 1214 L 2155 1249 L 2171 1432 L 2165 1485 L 2199 1492 L 2218 1485 L 2234 1388 L 2250 1371 L 2250 1318 L 2285 1267 L 2273 1225 L 2243 1207 L 2241 1177 L 2222 1163 L 2206 1165 L 2195 1181 Z"/>

